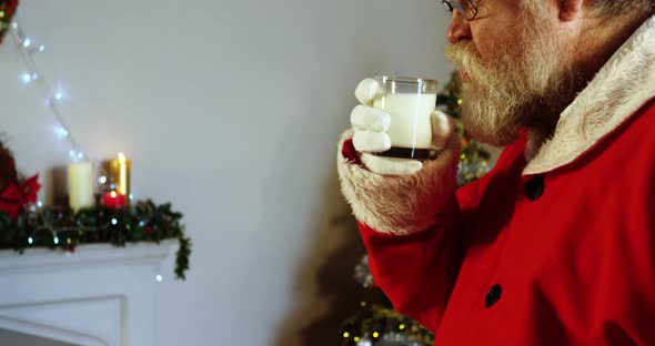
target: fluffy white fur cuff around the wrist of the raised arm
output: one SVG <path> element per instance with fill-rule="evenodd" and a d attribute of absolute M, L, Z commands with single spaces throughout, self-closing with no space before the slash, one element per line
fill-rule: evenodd
<path fill-rule="evenodd" d="M 424 231 L 439 222 L 439 214 L 457 184 L 460 139 L 453 135 L 449 146 L 436 160 L 423 163 L 423 169 L 411 175 L 382 175 L 349 161 L 341 154 L 346 131 L 339 141 L 337 171 L 341 191 L 355 217 L 385 234 L 411 234 Z"/>

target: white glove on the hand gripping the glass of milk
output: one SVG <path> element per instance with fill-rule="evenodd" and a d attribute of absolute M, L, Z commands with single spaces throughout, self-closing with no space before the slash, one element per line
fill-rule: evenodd
<path fill-rule="evenodd" d="M 381 109 L 372 106 L 372 101 L 381 91 L 374 79 L 365 79 L 355 89 L 355 98 L 360 101 L 351 113 L 353 128 L 353 146 L 361 153 L 362 163 L 371 172 L 390 175 L 414 174 L 423 167 L 419 160 L 377 156 L 391 149 L 391 139 L 386 131 L 391 124 L 391 115 Z M 453 124 L 449 116 L 434 111 L 432 123 L 432 149 L 442 150 L 453 135 Z"/>

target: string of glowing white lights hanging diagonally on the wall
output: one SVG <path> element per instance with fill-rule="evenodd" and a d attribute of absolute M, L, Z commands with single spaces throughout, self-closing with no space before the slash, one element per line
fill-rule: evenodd
<path fill-rule="evenodd" d="M 46 45 L 38 43 L 33 38 L 26 35 L 18 20 L 11 22 L 11 29 L 13 29 L 11 30 L 12 41 L 20 51 L 22 61 L 28 70 L 28 72 L 20 74 L 20 80 L 24 84 L 33 83 L 40 89 L 41 94 L 46 100 L 46 105 L 57 122 L 54 124 L 56 135 L 61 140 L 66 139 L 70 143 L 70 160 L 79 161 L 88 157 L 85 152 L 80 149 L 78 142 L 71 135 L 69 131 L 70 128 L 67 126 L 59 109 L 59 103 L 67 98 L 67 93 L 61 88 L 52 88 L 34 61 L 33 54 L 46 51 Z"/>

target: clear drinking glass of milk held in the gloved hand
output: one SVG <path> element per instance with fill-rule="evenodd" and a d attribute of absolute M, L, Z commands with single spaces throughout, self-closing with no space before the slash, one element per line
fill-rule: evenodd
<path fill-rule="evenodd" d="M 376 77 L 382 86 L 373 106 L 391 114 L 391 149 L 379 156 L 425 160 L 432 145 L 432 112 L 436 106 L 435 80 Z"/>

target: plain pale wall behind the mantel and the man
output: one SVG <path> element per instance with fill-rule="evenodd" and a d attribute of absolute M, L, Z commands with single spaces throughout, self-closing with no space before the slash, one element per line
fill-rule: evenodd
<path fill-rule="evenodd" d="M 361 79 L 447 79 L 439 1 L 23 0 L 20 16 L 78 141 L 128 153 L 137 196 L 185 215 L 192 269 L 160 286 L 159 344 L 333 344 L 361 253 L 335 143 Z M 2 44 L 0 131 L 44 172 L 69 147 L 21 71 Z"/>

